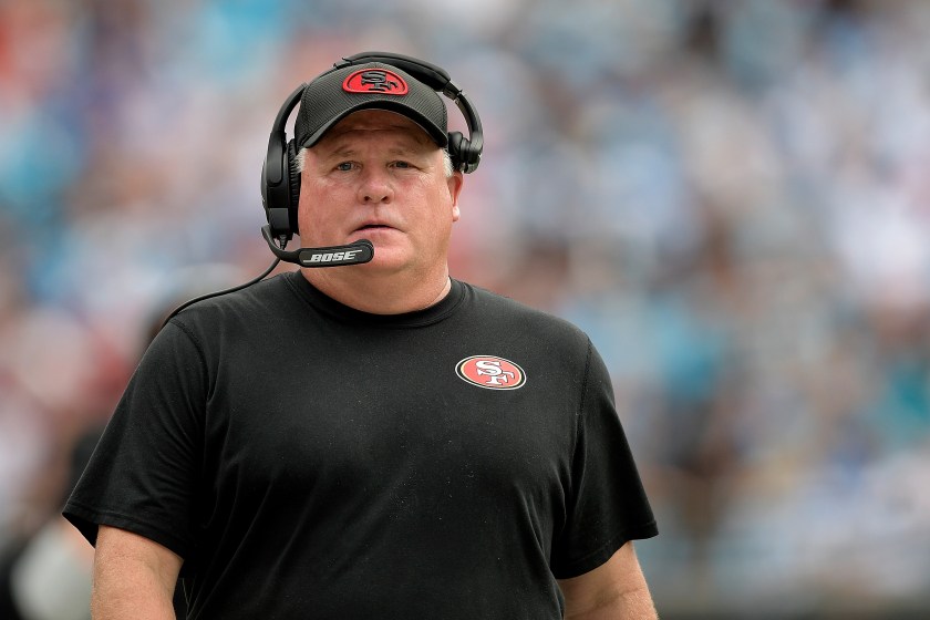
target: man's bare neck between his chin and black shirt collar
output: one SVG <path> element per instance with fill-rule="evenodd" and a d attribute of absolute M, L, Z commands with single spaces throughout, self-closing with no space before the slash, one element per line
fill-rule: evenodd
<path fill-rule="evenodd" d="M 402 314 L 423 310 L 438 303 L 452 288 L 447 268 L 428 278 L 413 278 L 370 276 L 361 272 L 359 267 L 303 268 L 301 271 L 327 297 L 372 314 Z M 342 271 L 347 269 L 355 272 Z"/>

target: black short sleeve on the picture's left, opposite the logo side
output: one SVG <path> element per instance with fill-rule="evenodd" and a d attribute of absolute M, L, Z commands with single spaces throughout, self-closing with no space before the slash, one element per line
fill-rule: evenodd
<path fill-rule="evenodd" d="M 99 525 L 126 529 L 180 557 L 193 549 L 207 370 L 176 323 L 140 361 L 63 514 L 93 545 Z"/>

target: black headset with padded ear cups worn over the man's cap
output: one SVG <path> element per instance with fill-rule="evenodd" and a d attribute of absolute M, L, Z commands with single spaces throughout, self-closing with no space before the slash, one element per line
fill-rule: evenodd
<path fill-rule="evenodd" d="M 426 61 L 403 54 L 362 52 L 335 62 L 332 69 L 321 73 L 318 79 L 345 66 L 369 62 L 379 62 L 401 69 L 411 78 L 442 93 L 456 104 L 465 117 L 465 123 L 468 127 L 468 137 L 465 137 L 462 132 L 450 132 L 448 154 L 452 159 L 452 165 L 456 170 L 465 174 L 473 173 L 480 163 L 482 148 L 484 147 L 482 122 L 475 106 L 472 105 L 465 96 L 465 93 L 452 81 L 445 70 Z M 261 167 L 261 202 L 265 206 L 265 215 L 268 220 L 268 226 L 262 228 L 262 232 L 266 241 L 269 238 L 277 241 L 279 249 L 283 249 L 287 241 L 294 234 L 298 234 L 297 205 L 300 198 L 300 173 L 297 172 L 297 146 L 293 140 L 288 141 L 285 125 L 293 108 L 297 107 L 306 87 L 307 83 L 298 86 L 278 111 L 275 124 L 271 127 L 271 135 L 268 138 L 268 153 L 265 157 L 265 164 Z M 275 249 L 272 247 L 272 251 Z M 338 248 L 324 249 L 338 250 Z M 333 252 L 331 251 L 330 254 Z M 286 257 L 278 256 L 282 260 L 288 260 Z M 287 256 L 291 257 L 290 254 Z M 304 260 L 300 259 L 296 261 L 301 265 L 304 262 Z M 304 266 L 309 267 L 309 265 Z"/>

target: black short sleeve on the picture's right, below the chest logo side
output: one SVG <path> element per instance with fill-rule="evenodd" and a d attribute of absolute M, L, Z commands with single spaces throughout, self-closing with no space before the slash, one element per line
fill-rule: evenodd
<path fill-rule="evenodd" d="M 627 541 L 659 530 L 614 405 L 607 368 L 588 342 L 566 525 L 552 547 L 556 578 L 577 577 Z"/>

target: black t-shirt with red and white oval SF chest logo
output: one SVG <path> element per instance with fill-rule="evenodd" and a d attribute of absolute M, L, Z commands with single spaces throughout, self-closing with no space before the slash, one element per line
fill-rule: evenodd
<path fill-rule="evenodd" d="M 561 618 L 556 578 L 657 534 L 580 330 L 458 281 L 368 314 L 297 271 L 170 321 L 64 514 L 183 557 L 190 618 Z"/>

